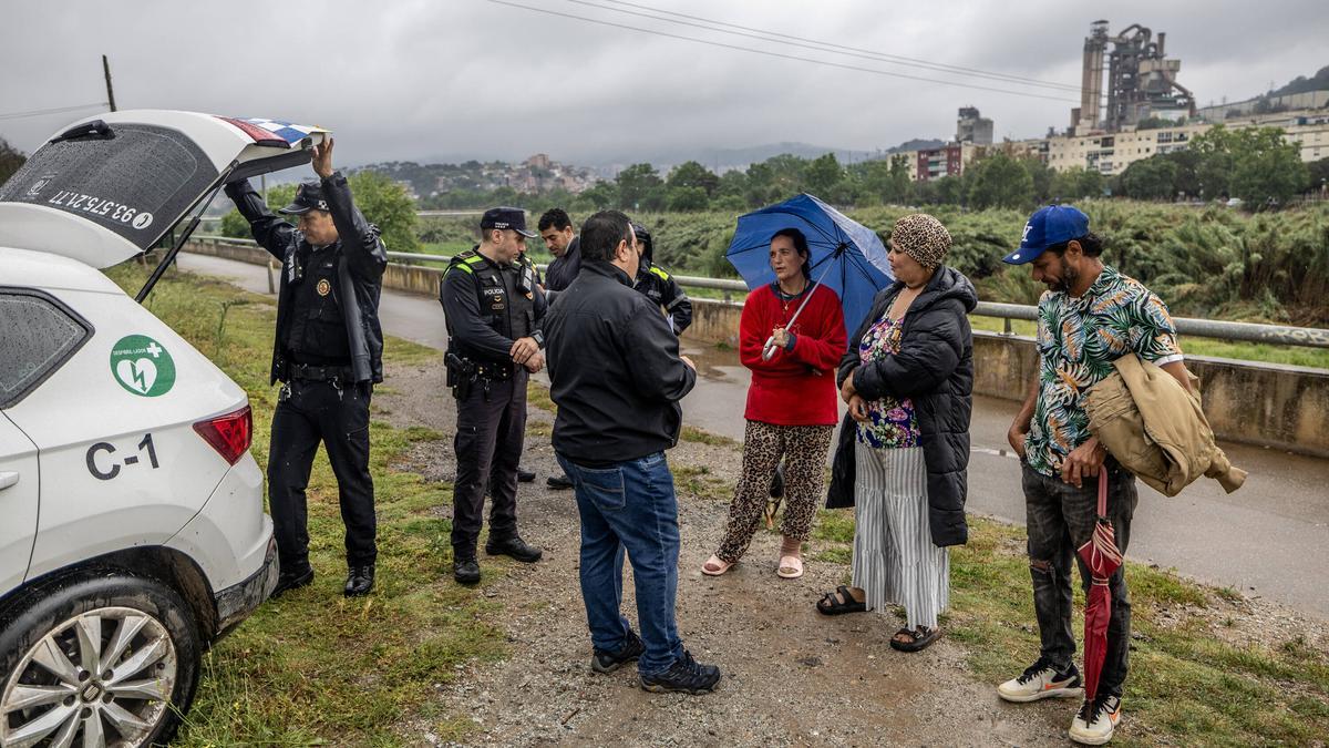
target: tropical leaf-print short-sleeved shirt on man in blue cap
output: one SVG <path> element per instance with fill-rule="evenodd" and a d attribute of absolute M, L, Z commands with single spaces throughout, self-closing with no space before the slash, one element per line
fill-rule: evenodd
<path fill-rule="evenodd" d="M 1084 397 L 1130 353 L 1159 366 L 1181 361 L 1176 326 L 1163 299 L 1135 278 L 1103 266 L 1079 298 L 1046 291 L 1038 301 L 1038 401 L 1025 459 L 1043 475 L 1090 438 Z"/>

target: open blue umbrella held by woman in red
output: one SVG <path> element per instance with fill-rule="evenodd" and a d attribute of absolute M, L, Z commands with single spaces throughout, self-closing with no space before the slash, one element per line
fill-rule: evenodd
<path fill-rule="evenodd" d="M 808 238 L 813 285 L 824 285 L 839 294 L 845 326 L 853 330 L 872 310 L 872 297 L 894 282 L 886 248 L 872 229 L 804 193 L 740 216 L 724 256 L 748 290 L 773 283 L 775 270 L 771 270 L 768 256 L 771 237 L 780 229 L 791 228 L 801 230 Z M 809 298 L 811 293 L 804 297 L 803 305 Z M 803 306 L 799 306 L 789 319 L 791 325 L 801 311 Z M 769 358 L 769 341 L 767 343 Z"/>

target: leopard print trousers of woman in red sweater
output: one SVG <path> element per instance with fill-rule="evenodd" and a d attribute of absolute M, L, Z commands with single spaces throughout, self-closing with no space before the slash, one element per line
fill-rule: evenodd
<path fill-rule="evenodd" d="M 780 532 L 785 538 L 807 540 L 817 515 L 825 484 L 827 450 L 835 426 L 775 426 L 748 421 L 743 431 L 743 472 L 730 502 L 730 520 L 724 542 L 715 555 L 734 563 L 743 558 L 752 534 L 766 514 L 771 496 L 771 478 L 784 458 L 784 519 Z"/>

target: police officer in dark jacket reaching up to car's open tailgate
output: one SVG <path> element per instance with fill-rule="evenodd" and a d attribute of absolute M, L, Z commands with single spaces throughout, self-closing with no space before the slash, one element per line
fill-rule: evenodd
<path fill-rule="evenodd" d="M 282 261 L 271 382 L 283 382 L 267 458 L 268 504 L 282 572 L 274 596 L 314 580 L 304 488 L 323 442 L 336 474 L 346 523 L 346 595 L 373 588 L 376 519 L 369 478 L 369 395 L 383 381 L 379 293 L 388 256 L 379 229 L 355 208 L 332 170 L 332 140 L 314 148 L 318 182 L 304 182 L 268 212 L 249 181 L 226 194 L 250 222 L 254 241 Z"/>

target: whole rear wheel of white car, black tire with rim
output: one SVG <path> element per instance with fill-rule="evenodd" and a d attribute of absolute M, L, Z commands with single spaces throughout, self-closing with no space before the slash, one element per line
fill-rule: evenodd
<path fill-rule="evenodd" d="M 171 739 L 202 659 L 198 626 L 178 594 L 109 570 L 23 598 L 0 623 L 0 745 L 28 744 L 24 735 L 48 727 L 52 744 Z M 78 741 L 88 732 L 92 740 Z"/>

